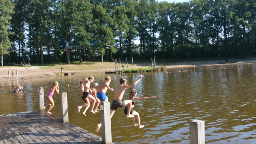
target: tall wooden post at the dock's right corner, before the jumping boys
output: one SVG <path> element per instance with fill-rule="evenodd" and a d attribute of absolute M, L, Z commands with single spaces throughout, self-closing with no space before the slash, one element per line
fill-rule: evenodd
<path fill-rule="evenodd" d="M 102 123 L 102 142 L 104 144 L 112 143 L 110 102 L 100 102 L 100 113 Z"/>

